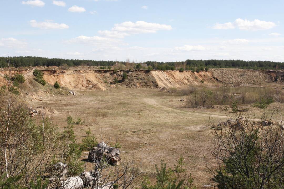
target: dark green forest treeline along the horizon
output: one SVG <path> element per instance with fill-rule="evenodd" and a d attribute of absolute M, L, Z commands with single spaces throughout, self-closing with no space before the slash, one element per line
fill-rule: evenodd
<path fill-rule="evenodd" d="M 10 58 L 13 67 L 27 67 L 27 66 L 113 66 L 115 64 L 123 64 L 129 68 L 128 65 L 138 64 L 139 62 L 129 60 L 127 61 L 96 61 L 96 60 L 73 60 L 61 58 L 43 58 L 35 56 L 14 56 Z M 244 61 L 244 60 L 186 60 L 179 62 L 157 62 L 146 61 L 143 62 L 147 66 L 153 67 L 157 70 L 192 70 L 195 68 L 241 68 L 241 69 L 284 69 L 284 62 L 273 61 Z M 0 66 L 7 67 L 7 57 L 0 57 Z M 130 67 L 131 68 L 131 67 Z M 133 66 L 135 68 L 135 66 Z"/>

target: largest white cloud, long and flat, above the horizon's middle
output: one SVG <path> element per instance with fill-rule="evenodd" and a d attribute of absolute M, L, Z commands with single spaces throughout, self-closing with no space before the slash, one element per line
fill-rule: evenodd
<path fill-rule="evenodd" d="M 122 22 L 120 24 L 114 24 L 114 27 L 111 30 L 99 31 L 99 33 L 106 37 L 123 38 L 131 34 L 156 33 L 158 30 L 171 30 L 171 29 L 172 26 L 170 25 L 137 21 L 137 22 Z"/>

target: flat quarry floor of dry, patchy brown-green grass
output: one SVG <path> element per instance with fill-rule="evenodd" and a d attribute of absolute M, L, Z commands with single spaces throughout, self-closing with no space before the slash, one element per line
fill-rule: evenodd
<path fill-rule="evenodd" d="M 143 171 L 148 173 L 154 173 L 154 165 L 161 159 L 173 168 L 183 156 L 185 169 L 193 175 L 198 188 L 208 182 L 206 165 L 214 166 L 215 162 L 210 155 L 214 131 L 209 118 L 215 122 L 225 120 L 228 112 L 224 107 L 189 109 L 180 101 L 185 96 L 158 89 L 119 87 L 77 92 L 42 99 L 45 107 L 57 111 L 48 116 L 60 130 L 66 126 L 67 116 L 75 121 L 80 117 L 85 124 L 74 125 L 77 141 L 90 128 L 98 141 L 118 141 L 125 151 L 122 156 L 134 156 L 137 163 L 142 161 Z M 260 115 L 252 106 L 249 113 Z M 91 165 L 87 163 L 88 169 L 91 170 Z"/>

